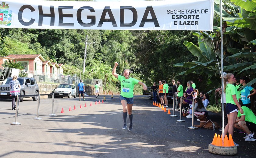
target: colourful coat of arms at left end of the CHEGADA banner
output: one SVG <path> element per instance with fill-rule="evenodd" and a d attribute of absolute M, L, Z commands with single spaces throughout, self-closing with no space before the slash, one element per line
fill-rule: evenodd
<path fill-rule="evenodd" d="M 0 25 L 12 25 L 12 10 L 9 10 L 9 4 L 0 3 Z"/>

